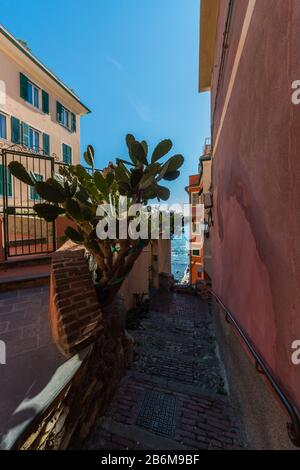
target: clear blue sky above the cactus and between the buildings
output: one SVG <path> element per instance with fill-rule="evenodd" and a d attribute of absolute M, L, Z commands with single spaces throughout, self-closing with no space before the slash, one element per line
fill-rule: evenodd
<path fill-rule="evenodd" d="M 153 147 L 172 139 L 185 164 L 166 182 L 187 202 L 210 134 L 209 94 L 198 93 L 200 0 L 1 0 L 0 22 L 92 110 L 82 118 L 102 168 L 127 156 L 125 135 Z M 28 16 L 28 12 L 30 15 Z"/>

